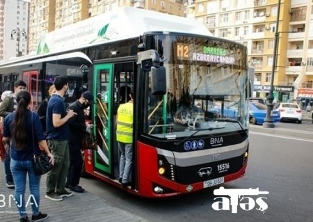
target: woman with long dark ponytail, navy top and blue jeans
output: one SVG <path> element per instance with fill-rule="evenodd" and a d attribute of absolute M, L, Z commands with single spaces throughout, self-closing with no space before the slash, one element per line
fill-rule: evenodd
<path fill-rule="evenodd" d="M 31 220 L 43 221 L 48 215 L 39 211 L 40 175 L 34 173 L 33 159 L 34 155 L 40 153 L 39 145 L 47 153 L 52 165 L 54 157 L 45 141 L 38 113 L 29 110 L 31 94 L 26 90 L 19 91 L 16 100 L 16 111 L 6 116 L 3 121 L 3 142 L 11 143 L 10 169 L 15 182 L 15 203 L 19 211 L 19 221 L 29 221 L 25 205 L 26 175 L 29 176 L 31 193 L 28 200 L 31 200 L 33 210 Z"/>

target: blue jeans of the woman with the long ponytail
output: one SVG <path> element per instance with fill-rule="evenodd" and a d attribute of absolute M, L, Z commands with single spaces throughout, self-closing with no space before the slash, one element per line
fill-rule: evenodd
<path fill-rule="evenodd" d="M 26 216 L 25 205 L 25 189 L 26 189 L 26 175 L 29 175 L 29 189 L 31 195 L 27 198 L 26 203 L 31 205 L 33 214 L 39 214 L 40 205 L 40 175 L 35 175 L 33 172 L 33 162 L 17 161 L 11 159 L 10 168 L 15 182 L 15 203 L 19 211 L 19 216 L 22 218 Z"/>

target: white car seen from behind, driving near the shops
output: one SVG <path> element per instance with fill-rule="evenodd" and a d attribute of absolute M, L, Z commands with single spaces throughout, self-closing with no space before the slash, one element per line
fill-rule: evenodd
<path fill-rule="evenodd" d="M 302 122 L 302 111 L 298 104 L 282 102 L 278 106 L 278 110 L 280 111 L 280 122 L 284 120 L 291 120 L 298 123 Z"/>

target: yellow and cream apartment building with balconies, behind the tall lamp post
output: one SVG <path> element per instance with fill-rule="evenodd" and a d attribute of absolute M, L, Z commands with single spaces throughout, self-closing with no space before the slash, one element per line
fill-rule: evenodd
<path fill-rule="evenodd" d="M 280 2 L 275 101 L 313 97 L 312 1 Z M 188 0 L 186 14 L 203 22 L 214 35 L 247 46 L 249 64 L 255 68 L 253 93 L 266 97 L 273 77 L 278 0 Z"/>

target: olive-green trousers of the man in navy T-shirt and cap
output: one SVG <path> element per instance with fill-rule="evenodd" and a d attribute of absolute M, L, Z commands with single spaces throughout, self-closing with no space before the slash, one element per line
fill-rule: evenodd
<path fill-rule="evenodd" d="M 47 193 L 62 193 L 70 167 L 68 141 L 48 141 L 51 154 L 54 156 L 54 167 L 47 174 Z"/>

